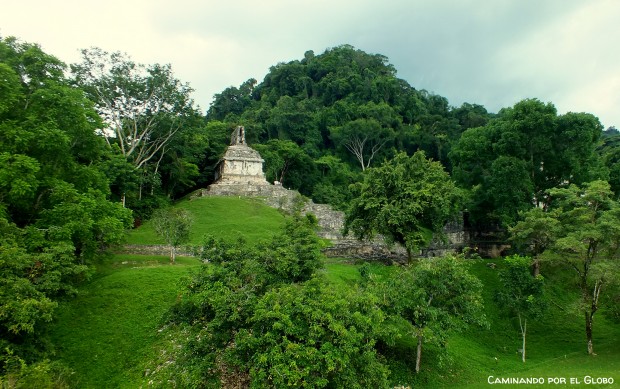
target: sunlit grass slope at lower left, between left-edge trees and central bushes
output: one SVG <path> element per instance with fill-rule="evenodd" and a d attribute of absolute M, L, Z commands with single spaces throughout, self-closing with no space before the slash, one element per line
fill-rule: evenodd
<path fill-rule="evenodd" d="M 139 386 L 178 282 L 196 266 L 191 258 L 170 265 L 165 256 L 116 255 L 99 266 L 77 298 L 61 305 L 52 342 L 76 371 L 80 388 Z"/>

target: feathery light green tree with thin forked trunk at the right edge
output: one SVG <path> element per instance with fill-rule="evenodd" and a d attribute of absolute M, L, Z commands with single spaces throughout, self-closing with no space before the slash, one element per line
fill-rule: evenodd
<path fill-rule="evenodd" d="M 594 354 L 594 315 L 599 310 L 605 287 L 618 280 L 620 270 L 620 205 L 605 181 L 593 181 L 582 187 L 552 188 L 548 191 L 551 209 L 547 216 L 556 220 L 555 234 L 544 255 L 574 271 L 585 318 L 588 354 Z M 525 214 L 541 219 L 540 211 Z M 526 222 L 515 226 L 525 230 Z M 545 245 L 548 244 L 545 242 Z"/>

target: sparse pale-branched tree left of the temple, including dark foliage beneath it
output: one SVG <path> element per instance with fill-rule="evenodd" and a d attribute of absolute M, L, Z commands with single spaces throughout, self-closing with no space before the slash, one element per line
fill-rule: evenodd
<path fill-rule="evenodd" d="M 133 167 L 110 163 L 113 188 L 124 202 L 136 207 L 147 190 L 172 196 L 196 184 L 204 162 L 203 121 L 192 88 L 175 78 L 170 65 L 147 66 L 92 48 L 82 50 L 82 62 L 71 70 L 102 118 L 99 138 Z"/>

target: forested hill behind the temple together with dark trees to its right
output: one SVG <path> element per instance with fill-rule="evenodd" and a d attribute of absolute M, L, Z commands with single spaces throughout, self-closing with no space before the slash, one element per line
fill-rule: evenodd
<path fill-rule="evenodd" d="M 260 83 L 224 90 L 206 117 L 212 129 L 245 125 L 269 180 L 341 209 L 361 172 L 422 150 L 467 191 L 468 220 L 482 229 L 545 205 L 549 188 L 617 175 L 617 134 L 601 148 L 603 128 L 592 114 L 558 115 L 537 99 L 497 114 L 475 103 L 453 107 L 399 79 L 386 57 L 347 45 L 306 52 L 271 67 Z"/>

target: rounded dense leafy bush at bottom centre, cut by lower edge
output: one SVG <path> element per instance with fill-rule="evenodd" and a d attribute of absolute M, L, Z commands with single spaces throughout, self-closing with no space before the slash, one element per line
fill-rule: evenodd
<path fill-rule="evenodd" d="M 312 279 L 265 294 L 239 352 L 252 349 L 255 387 L 384 387 L 388 371 L 374 349 L 383 320 L 367 296 Z"/>

